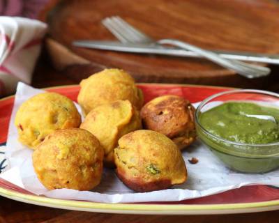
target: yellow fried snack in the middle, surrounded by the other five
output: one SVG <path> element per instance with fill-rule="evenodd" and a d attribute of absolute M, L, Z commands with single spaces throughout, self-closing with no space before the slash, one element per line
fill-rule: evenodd
<path fill-rule="evenodd" d="M 91 110 L 80 128 L 99 139 L 105 149 L 105 166 L 114 167 L 114 148 L 124 134 L 142 128 L 137 109 L 128 100 L 117 100 Z"/>

